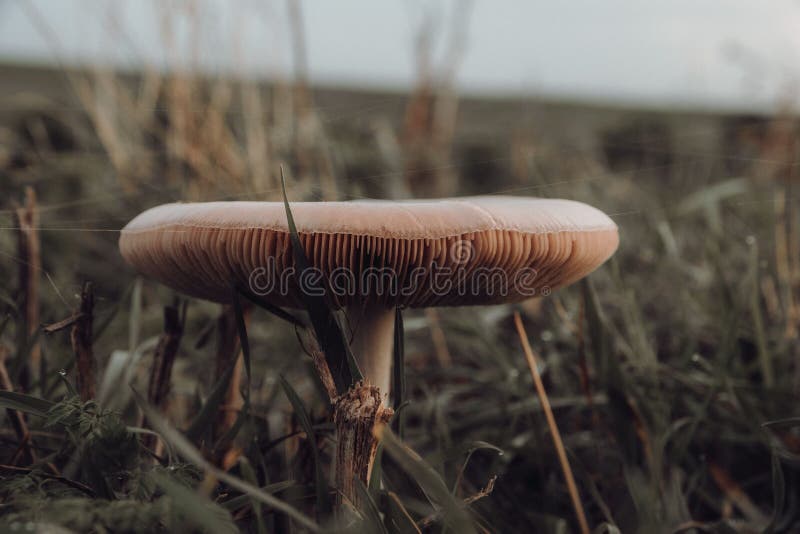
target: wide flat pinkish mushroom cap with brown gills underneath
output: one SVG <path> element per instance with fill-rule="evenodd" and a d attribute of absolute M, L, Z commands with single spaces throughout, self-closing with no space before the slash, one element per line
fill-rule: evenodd
<path fill-rule="evenodd" d="M 281 202 L 165 204 L 128 223 L 119 247 L 143 274 L 218 302 L 228 302 L 236 284 L 299 307 L 299 291 L 322 281 L 336 307 L 428 307 L 546 295 L 595 270 L 619 243 L 607 215 L 571 200 L 294 202 L 291 209 L 316 273 L 294 268 Z"/>

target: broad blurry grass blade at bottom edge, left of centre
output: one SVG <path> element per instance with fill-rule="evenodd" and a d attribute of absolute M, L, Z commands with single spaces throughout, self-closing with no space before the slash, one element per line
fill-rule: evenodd
<path fill-rule="evenodd" d="M 203 532 L 239 532 L 228 510 L 163 473 L 152 472 L 150 477 L 187 523 Z"/>

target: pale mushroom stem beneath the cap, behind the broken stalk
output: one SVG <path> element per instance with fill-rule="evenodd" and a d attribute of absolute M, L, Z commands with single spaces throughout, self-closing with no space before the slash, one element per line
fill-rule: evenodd
<path fill-rule="evenodd" d="M 353 326 L 353 350 L 367 384 L 376 386 L 381 401 L 386 402 L 392 378 L 394 347 L 394 310 L 380 305 L 347 309 Z"/>

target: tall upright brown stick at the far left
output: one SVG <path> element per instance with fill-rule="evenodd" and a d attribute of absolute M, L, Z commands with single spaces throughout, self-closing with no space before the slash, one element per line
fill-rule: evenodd
<path fill-rule="evenodd" d="M 17 255 L 19 262 L 19 308 L 25 325 L 26 341 L 32 339 L 39 328 L 39 273 L 42 270 L 39 246 L 39 212 L 36 209 L 36 192 L 32 187 L 25 188 L 25 204 L 16 211 Z M 39 380 L 42 368 L 42 353 L 39 344 L 34 343 L 28 354 L 28 373 L 23 375 L 22 387 Z"/>

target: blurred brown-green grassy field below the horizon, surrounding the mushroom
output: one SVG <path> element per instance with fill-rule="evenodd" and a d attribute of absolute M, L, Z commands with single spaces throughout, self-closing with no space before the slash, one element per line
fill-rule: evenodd
<path fill-rule="evenodd" d="M 503 193 L 572 198 L 609 213 L 621 236 L 613 261 L 588 283 L 522 307 L 589 524 L 626 533 L 800 531 L 799 147 L 788 112 L 733 116 L 458 99 L 425 86 L 381 94 L 2 66 L 0 350 L 16 389 L 66 398 L 46 407 L 46 417 L 27 416 L 35 459 L 25 459 L 30 450 L 8 412 L 2 519 L 76 532 L 219 531 L 231 523 L 303 530 L 247 492 L 204 477 L 183 451 L 167 455 L 169 445 L 140 443 L 124 426 L 144 424 L 127 383 L 147 391 L 163 308 L 178 296 L 135 279 L 116 251 L 117 230 L 168 201 L 278 199 L 284 164 L 291 200 Z M 15 215 L 26 187 L 37 196 L 34 271 L 19 249 Z M 31 272 L 35 324 L 25 312 Z M 69 396 L 69 329 L 39 328 L 69 317 L 87 280 L 97 398 L 118 416 Z M 373 488 L 376 509 L 338 528 L 579 531 L 512 312 L 404 313 L 404 439 L 454 501 L 469 502 L 468 524 L 448 515 L 418 471 L 404 474 L 386 461 L 383 489 Z M 207 302 L 187 304 L 163 405 L 183 430 L 219 376 L 219 314 Z M 327 461 L 333 436 L 309 358 L 294 328 L 260 309 L 248 337 L 251 416 L 222 463 L 325 522 L 312 451 Z M 41 379 L 28 365 L 35 351 Z M 308 411 L 314 444 L 281 375 Z M 207 442 L 194 442 L 213 457 Z M 403 528 L 389 520 L 405 513 Z"/>

